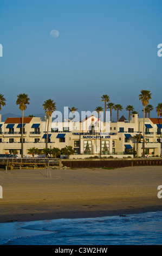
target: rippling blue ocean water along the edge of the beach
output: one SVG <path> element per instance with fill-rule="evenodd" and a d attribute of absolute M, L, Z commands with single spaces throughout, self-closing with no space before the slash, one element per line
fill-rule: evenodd
<path fill-rule="evenodd" d="M 0 223 L 0 245 L 161 245 L 162 211 Z"/>

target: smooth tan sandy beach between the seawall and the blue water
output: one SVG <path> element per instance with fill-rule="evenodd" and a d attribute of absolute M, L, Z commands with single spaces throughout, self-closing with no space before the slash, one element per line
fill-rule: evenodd
<path fill-rule="evenodd" d="M 161 166 L 0 170 L 0 223 L 161 211 Z"/>

